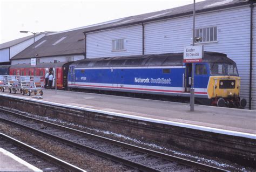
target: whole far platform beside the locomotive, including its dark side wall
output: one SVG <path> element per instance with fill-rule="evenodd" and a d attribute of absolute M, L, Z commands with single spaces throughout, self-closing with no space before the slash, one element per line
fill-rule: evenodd
<path fill-rule="evenodd" d="M 0 98 L 3 107 L 255 167 L 256 111 L 195 105 L 190 112 L 189 104 L 55 90 L 43 99 Z"/>

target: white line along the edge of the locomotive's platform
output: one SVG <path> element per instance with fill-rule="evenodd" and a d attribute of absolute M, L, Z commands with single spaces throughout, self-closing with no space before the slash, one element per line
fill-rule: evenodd
<path fill-rule="evenodd" d="M 124 114 L 124 113 L 102 111 L 102 110 L 98 110 L 98 109 L 79 107 L 79 106 L 73 106 L 73 105 L 64 105 L 64 104 L 59 104 L 59 103 L 56 103 L 56 102 L 49 102 L 49 101 L 44 101 L 44 100 L 33 100 L 33 99 L 29 99 L 29 98 L 21 98 L 21 97 L 15 96 L 15 95 L 7 95 L 7 94 L 0 94 L 0 95 L 3 95 L 4 97 L 17 98 L 17 99 L 21 99 L 21 100 L 41 102 L 41 103 L 48 104 L 48 105 L 56 105 L 56 106 L 60 106 L 60 107 L 75 108 L 75 109 L 79 109 L 79 110 L 83 110 L 83 111 L 103 113 L 103 114 L 113 115 L 113 116 L 121 116 L 121 117 L 124 117 L 124 118 L 130 118 L 130 119 L 135 119 L 135 120 L 142 120 L 142 121 L 161 123 L 161 124 L 177 126 L 177 127 L 198 129 L 198 130 L 203 130 L 205 132 L 212 132 L 212 133 L 226 134 L 226 135 L 232 135 L 232 136 L 239 136 L 239 137 L 245 137 L 245 138 L 256 140 L 256 134 L 251 134 L 251 133 L 243 133 L 243 132 L 236 132 L 236 131 L 232 131 L 232 130 L 225 130 L 225 129 L 219 129 L 219 128 L 198 126 L 198 125 L 192 125 L 192 124 L 182 123 L 182 122 L 158 120 L 158 119 L 146 118 L 146 117 L 142 117 L 142 116 L 134 116 L 134 115 Z"/>

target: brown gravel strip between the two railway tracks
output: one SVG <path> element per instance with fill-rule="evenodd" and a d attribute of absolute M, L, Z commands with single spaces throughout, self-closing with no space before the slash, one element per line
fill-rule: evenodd
<path fill-rule="evenodd" d="M 46 139 L 28 130 L 19 127 L 14 128 L 3 122 L 0 122 L 0 132 L 87 171 L 132 171 L 131 168 L 122 164 Z"/>

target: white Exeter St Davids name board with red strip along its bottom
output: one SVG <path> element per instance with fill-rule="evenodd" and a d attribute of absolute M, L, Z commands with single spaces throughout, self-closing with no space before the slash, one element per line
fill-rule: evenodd
<path fill-rule="evenodd" d="M 183 63 L 201 62 L 204 56 L 203 45 L 185 46 L 183 51 Z"/>

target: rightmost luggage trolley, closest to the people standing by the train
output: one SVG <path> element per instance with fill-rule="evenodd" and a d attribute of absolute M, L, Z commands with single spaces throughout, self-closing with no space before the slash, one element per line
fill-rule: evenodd
<path fill-rule="evenodd" d="M 21 92 L 22 95 L 31 95 L 31 93 L 34 93 L 35 95 L 37 93 L 39 93 L 40 95 L 43 95 L 43 88 L 42 87 L 37 87 L 35 84 L 35 81 L 37 81 L 36 83 L 38 84 L 38 79 L 37 77 L 30 77 L 30 76 L 22 76 L 21 77 Z M 42 84 L 43 86 L 43 84 Z"/>

